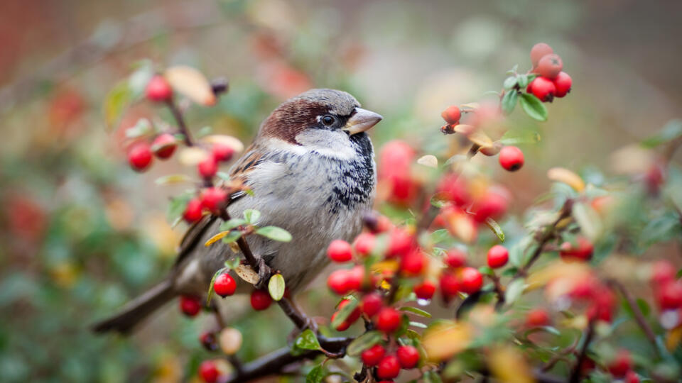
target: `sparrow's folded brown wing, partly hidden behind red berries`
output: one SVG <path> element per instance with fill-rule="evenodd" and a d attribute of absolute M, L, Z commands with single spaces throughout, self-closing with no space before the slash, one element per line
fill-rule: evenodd
<path fill-rule="evenodd" d="M 258 166 L 262 161 L 262 153 L 254 144 L 251 144 L 249 148 L 247 148 L 244 155 L 240 157 L 239 160 L 234 163 L 234 165 L 232 165 L 232 168 L 229 170 L 229 178 L 239 180 L 244 184 L 248 184 L 249 172 L 254 170 L 255 167 Z M 232 202 L 237 201 L 245 195 L 246 193 L 244 191 L 234 193 L 232 196 L 230 196 L 229 203 L 232 204 Z M 187 255 L 192 253 L 197 246 L 198 241 L 201 240 L 204 233 L 216 220 L 217 217 L 208 215 L 204 216 L 202 219 L 200 219 L 200 221 L 190 226 L 188 231 L 185 232 L 183 239 L 180 240 L 180 247 L 178 250 L 178 257 L 175 259 L 175 265 L 179 265 L 180 262 L 187 257 Z"/>

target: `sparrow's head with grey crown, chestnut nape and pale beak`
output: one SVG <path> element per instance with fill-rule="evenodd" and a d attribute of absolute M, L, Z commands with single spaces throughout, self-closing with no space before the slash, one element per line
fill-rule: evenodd
<path fill-rule="evenodd" d="M 261 138 L 274 138 L 318 152 L 339 155 L 381 115 L 360 108 L 359 102 L 334 89 L 311 89 L 284 101 L 261 126 Z"/>

